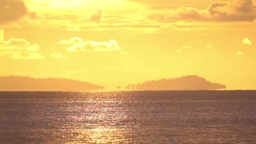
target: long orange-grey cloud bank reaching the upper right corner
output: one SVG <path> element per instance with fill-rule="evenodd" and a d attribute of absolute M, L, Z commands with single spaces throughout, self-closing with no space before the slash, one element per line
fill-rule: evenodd
<path fill-rule="evenodd" d="M 189 21 L 254 21 L 256 4 L 253 0 L 233 0 L 212 3 L 208 9 L 198 10 L 191 7 L 177 9 L 158 9 L 147 12 L 149 19 L 161 22 L 175 20 Z"/>

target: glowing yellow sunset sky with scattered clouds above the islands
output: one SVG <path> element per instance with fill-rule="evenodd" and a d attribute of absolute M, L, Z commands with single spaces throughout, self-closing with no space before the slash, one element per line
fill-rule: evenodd
<path fill-rule="evenodd" d="M 0 76 L 256 89 L 256 0 L 1 0 Z"/>

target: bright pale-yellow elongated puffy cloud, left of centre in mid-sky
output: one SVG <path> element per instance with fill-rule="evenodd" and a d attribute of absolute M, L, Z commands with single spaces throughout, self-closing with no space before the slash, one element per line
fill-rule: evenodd
<path fill-rule="evenodd" d="M 69 40 L 61 40 L 59 44 L 73 44 L 67 48 L 67 51 L 121 51 L 117 41 L 115 40 L 109 40 L 109 42 L 83 42 L 81 38 L 72 37 Z"/>

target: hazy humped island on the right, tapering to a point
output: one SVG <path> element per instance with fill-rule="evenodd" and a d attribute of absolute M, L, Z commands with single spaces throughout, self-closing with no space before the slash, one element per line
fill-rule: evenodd
<path fill-rule="evenodd" d="M 128 90 L 149 91 L 217 90 L 224 88 L 226 88 L 226 85 L 211 83 L 208 80 L 205 80 L 205 78 L 197 75 L 188 75 L 179 78 L 163 78 L 160 80 L 151 80 L 126 86 L 126 89 Z"/>

